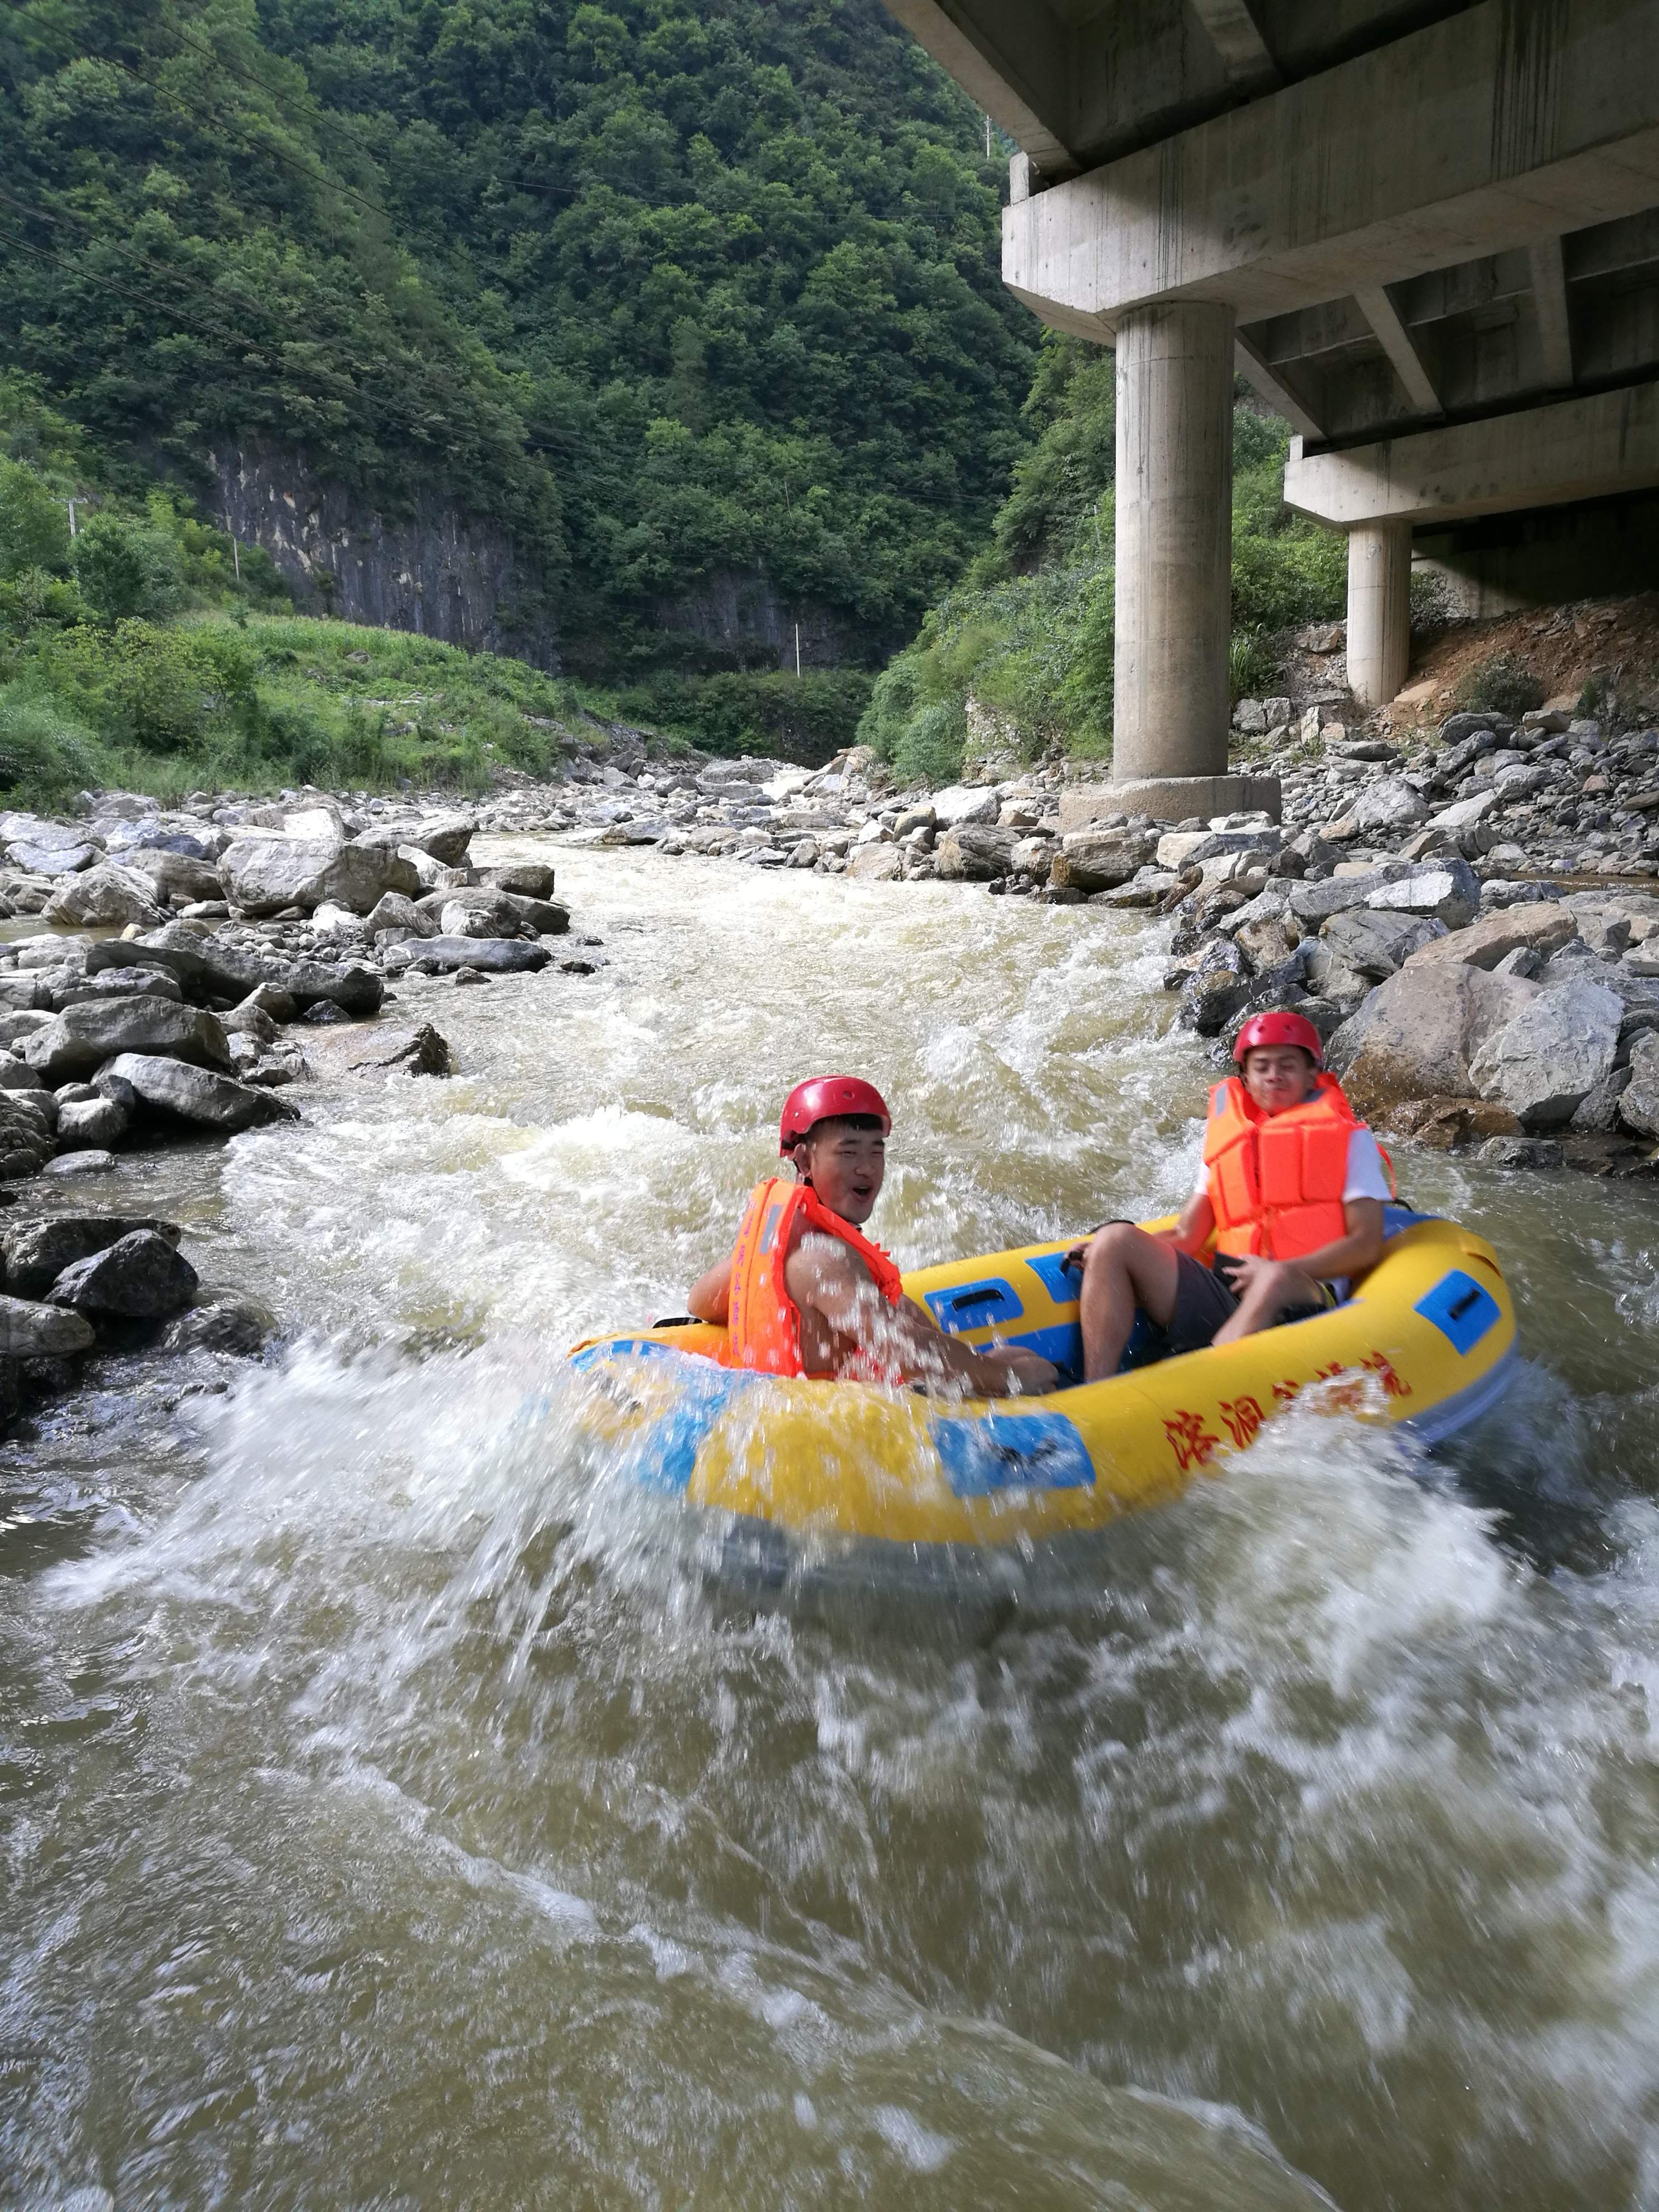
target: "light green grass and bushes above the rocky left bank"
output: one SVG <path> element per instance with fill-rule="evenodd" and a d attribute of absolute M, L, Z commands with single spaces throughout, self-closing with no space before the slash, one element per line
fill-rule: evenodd
<path fill-rule="evenodd" d="M 263 553 L 166 491 L 88 504 L 88 473 L 75 427 L 0 378 L 0 810 L 88 785 L 478 792 L 498 768 L 546 772 L 580 726 L 571 681 L 296 617 Z"/>

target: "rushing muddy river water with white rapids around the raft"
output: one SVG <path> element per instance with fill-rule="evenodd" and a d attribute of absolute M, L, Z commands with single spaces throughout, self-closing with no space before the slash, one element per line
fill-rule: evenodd
<path fill-rule="evenodd" d="M 1659 1199 L 1405 1164 L 1520 1294 L 1451 1458 L 1292 1418 L 989 1637 L 750 1617 L 560 1349 L 807 1071 L 916 1263 L 1177 1203 L 1208 1068 L 1137 918 L 553 858 L 611 964 L 405 982 L 456 1079 L 319 1031 L 93 1186 L 285 1347 L 0 1447 L 0 2203 L 1659 2205 Z"/>

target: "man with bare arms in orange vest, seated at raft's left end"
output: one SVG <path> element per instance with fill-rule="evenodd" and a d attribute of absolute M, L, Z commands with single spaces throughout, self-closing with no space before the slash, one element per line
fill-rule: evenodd
<path fill-rule="evenodd" d="M 794 1181 L 752 1194 L 732 1256 L 686 1301 L 730 1329 L 732 1367 L 860 1383 L 958 1383 L 975 1398 L 1048 1391 L 1035 1352 L 969 1352 L 911 1305 L 898 1267 L 858 1232 L 887 1172 L 891 1115 L 874 1084 L 814 1075 L 783 1104 L 779 1155 Z"/>

